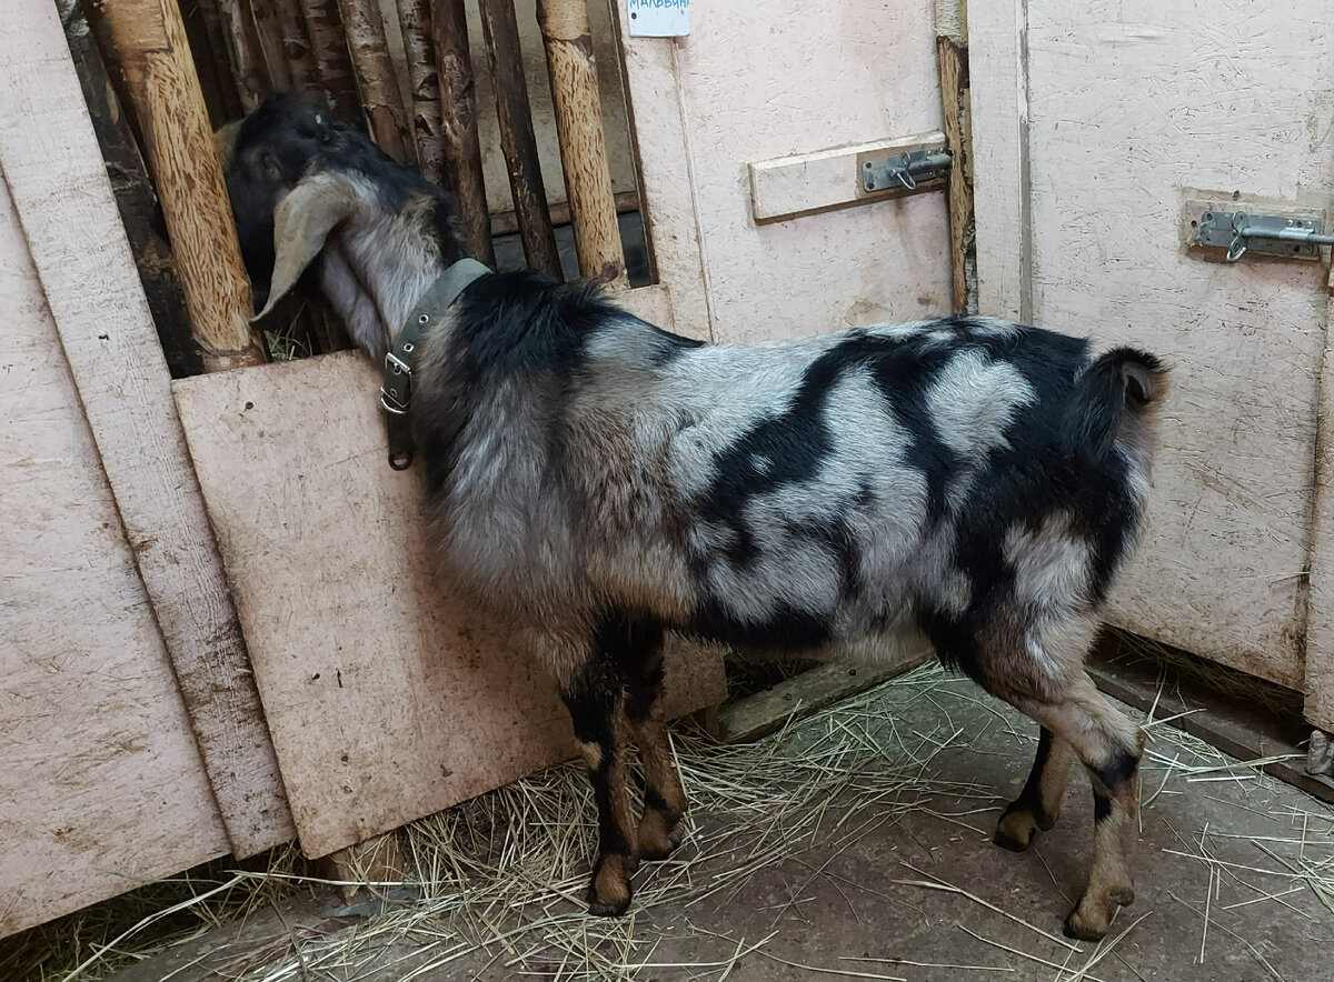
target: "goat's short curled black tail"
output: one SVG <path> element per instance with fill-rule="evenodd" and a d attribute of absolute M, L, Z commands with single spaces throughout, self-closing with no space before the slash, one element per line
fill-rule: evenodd
<path fill-rule="evenodd" d="M 1135 348 L 1110 350 L 1075 381 L 1061 421 L 1062 449 L 1070 457 L 1102 460 L 1119 440 L 1146 444 L 1154 404 L 1167 390 L 1167 368 Z"/>

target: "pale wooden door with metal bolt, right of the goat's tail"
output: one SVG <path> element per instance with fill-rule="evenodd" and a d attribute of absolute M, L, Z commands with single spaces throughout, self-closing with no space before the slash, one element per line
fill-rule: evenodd
<path fill-rule="evenodd" d="M 1002 119 L 986 119 L 983 93 L 1009 93 L 1017 73 L 999 49 L 979 51 L 983 39 L 970 43 L 983 141 L 979 274 L 983 233 L 998 237 L 994 254 L 1021 258 L 1031 237 L 1037 322 L 1142 345 L 1174 365 L 1149 534 L 1114 620 L 1299 688 L 1323 270 L 1202 261 L 1178 215 L 1185 197 L 1207 196 L 1197 188 L 1329 204 L 1334 7 L 1299 0 L 1282 17 L 1257 19 L 1223 4 L 979 0 L 970 29 L 1017 9 L 1027 17 L 1026 83 L 1018 101 L 992 107 Z M 987 37 L 1010 43 L 1003 31 Z M 1017 127 L 1027 181 L 1007 145 Z M 1019 189 L 1031 220 L 988 227 L 983 175 Z"/>

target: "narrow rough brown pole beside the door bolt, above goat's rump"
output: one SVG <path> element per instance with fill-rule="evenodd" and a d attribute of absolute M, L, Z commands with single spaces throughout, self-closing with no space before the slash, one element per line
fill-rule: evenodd
<path fill-rule="evenodd" d="M 952 23 L 958 29 L 958 21 Z M 939 25 L 939 9 L 938 24 Z M 935 39 L 940 72 L 940 112 L 944 141 L 954 156 L 946 197 L 950 213 L 950 309 L 958 314 L 975 310 L 976 225 L 972 215 L 972 147 L 968 140 L 968 49 L 952 37 Z"/>

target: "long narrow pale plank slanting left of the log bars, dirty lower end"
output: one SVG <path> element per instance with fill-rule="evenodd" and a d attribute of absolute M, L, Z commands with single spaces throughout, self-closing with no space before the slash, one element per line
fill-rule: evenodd
<path fill-rule="evenodd" d="M 259 696 L 55 9 L 23 28 L 0 39 L 0 164 L 232 850 L 251 855 L 293 834 Z"/>

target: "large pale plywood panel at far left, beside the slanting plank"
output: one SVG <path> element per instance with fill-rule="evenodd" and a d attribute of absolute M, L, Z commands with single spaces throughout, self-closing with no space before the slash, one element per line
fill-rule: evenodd
<path fill-rule="evenodd" d="M 228 842 L 4 180 L 0 297 L 3 937 Z"/>

